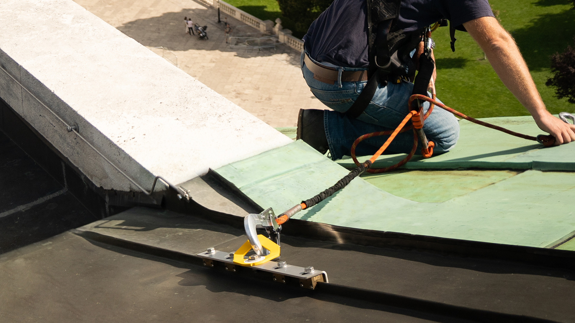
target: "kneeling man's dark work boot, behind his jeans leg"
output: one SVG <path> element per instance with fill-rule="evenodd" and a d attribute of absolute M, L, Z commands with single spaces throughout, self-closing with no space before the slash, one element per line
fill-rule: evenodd
<path fill-rule="evenodd" d="M 327 152 L 329 145 L 325 137 L 324 110 L 300 109 L 297 116 L 296 139 L 305 141 L 316 151 Z"/>

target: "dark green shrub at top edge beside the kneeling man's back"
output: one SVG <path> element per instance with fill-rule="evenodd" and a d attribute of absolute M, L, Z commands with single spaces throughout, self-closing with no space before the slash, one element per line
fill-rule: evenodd
<path fill-rule="evenodd" d="M 279 9 L 282 10 L 283 26 L 292 29 L 294 35 L 303 36 L 308 31 L 309 25 L 332 2 L 333 0 L 278 0 Z"/>

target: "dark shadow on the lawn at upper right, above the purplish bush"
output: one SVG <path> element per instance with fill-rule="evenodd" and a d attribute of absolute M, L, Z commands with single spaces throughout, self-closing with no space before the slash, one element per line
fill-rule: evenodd
<path fill-rule="evenodd" d="M 563 2 L 563 0 L 540 0 L 543 3 Z M 539 3 L 538 2 L 538 3 Z M 575 35 L 575 10 L 561 13 L 543 14 L 531 21 L 529 26 L 512 32 L 527 66 L 531 71 L 550 68 L 550 56 L 562 52 L 573 44 Z"/>

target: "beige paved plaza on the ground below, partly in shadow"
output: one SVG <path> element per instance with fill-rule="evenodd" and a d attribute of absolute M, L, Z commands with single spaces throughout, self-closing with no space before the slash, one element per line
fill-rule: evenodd
<path fill-rule="evenodd" d="M 302 107 L 325 109 L 301 76 L 299 52 L 284 44 L 261 51 L 230 49 L 216 9 L 191 0 L 74 1 L 159 55 L 162 49 L 154 48 L 170 49 L 183 71 L 271 126 L 295 126 Z M 187 34 L 184 17 L 207 25 L 209 40 Z M 221 21 L 224 17 L 221 13 Z M 227 19 L 232 28 L 245 30 L 236 28 L 241 21 Z M 164 55 L 175 61 L 170 52 Z"/>

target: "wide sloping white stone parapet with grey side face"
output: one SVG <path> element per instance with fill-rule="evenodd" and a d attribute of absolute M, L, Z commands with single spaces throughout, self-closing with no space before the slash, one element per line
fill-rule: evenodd
<path fill-rule="evenodd" d="M 104 189 L 292 142 L 72 0 L 0 1 L 0 67 L 0 97 Z"/>

